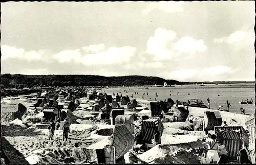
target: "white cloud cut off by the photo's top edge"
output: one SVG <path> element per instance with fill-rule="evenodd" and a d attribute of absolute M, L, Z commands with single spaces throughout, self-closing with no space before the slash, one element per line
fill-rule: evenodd
<path fill-rule="evenodd" d="M 183 12 L 183 5 L 184 2 L 175 1 L 152 2 L 142 11 L 142 14 L 148 14 L 155 9 L 162 10 L 166 13 Z"/>

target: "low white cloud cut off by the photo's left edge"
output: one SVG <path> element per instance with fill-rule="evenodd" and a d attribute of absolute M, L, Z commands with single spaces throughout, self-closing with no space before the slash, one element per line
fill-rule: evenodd
<path fill-rule="evenodd" d="M 35 60 L 43 60 L 42 55 L 44 51 L 29 51 L 26 52 L 24 49 L 17 49 L 13 46 L 9 45 L 1 45 L 1 53 L 2 53 L 2 60 L 7 59 L 20 59 L 26 61 L 35 61 Z"/>

